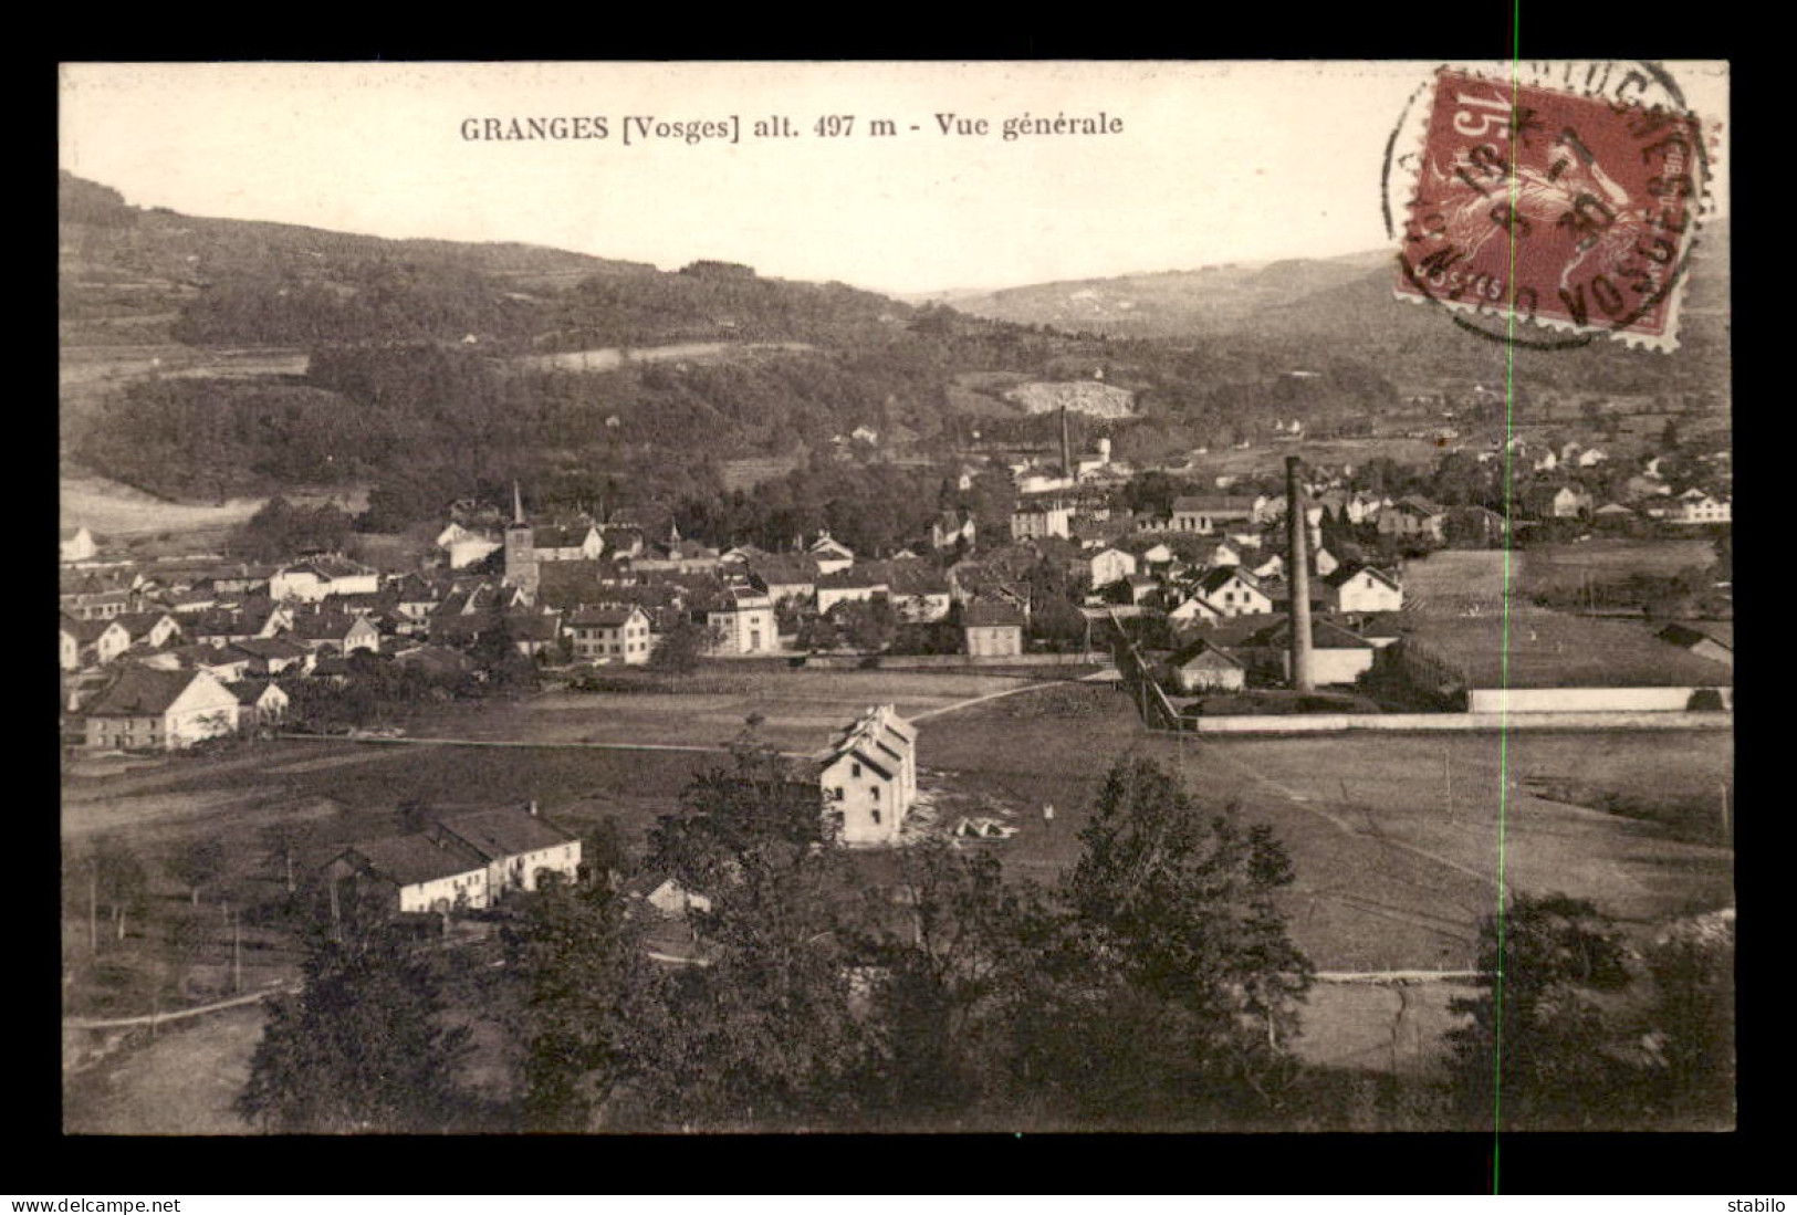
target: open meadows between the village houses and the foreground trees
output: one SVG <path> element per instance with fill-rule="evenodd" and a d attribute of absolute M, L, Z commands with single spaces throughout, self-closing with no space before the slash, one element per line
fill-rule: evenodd
<path fill-rule="evenodd" d="M 978 809 L 1017 827 L 1010 839 L 965 841 L 996 850 L 1017 877 L 1053 881 L 1078 857 L 1091 800 L 1120 757 L 1177 766 L 1208 805 L 1238 805 L 1290 850 L 1297 881 L 1285 908 L 1297 944 L 1323 971 L 1470 969 L 1477 924 L 1497 908 L 1499 872 L 1509 890 L 1589 897 L 1642 927 L 1732 900 L 1718 811 L 1732 764 L 1727 735 L 1529 733 L 1511 737 L 1508 748 L 1497 735 L 1181 742 L 1146 735 L 1127 697 L 1105 683 L 1033 687 L 882 670 L 766 670 L 746 672 L 742 681 L 742 692 L 570 694 L 453 706 L 410 726 L 412 737 L 429 728 L 431 737 L 550 746 L 288 741 L 160 760 L 117 776 L 70 775 L 63 830 L 124 829 L 153 857 L 183 838 L 219 834 L 234 872 L 208 902 L 266 899 L 277 890 L 255 847 L 261 827 L 305 818 L 314 830 L 311 859 L 322 861 L 349 839 L 394 830 L 394 807 L 410 798 L 438 805 L 536 798 L 546 816 L 570 827 L 615 816 L 640 841 L 697 771 L 728 757 L 598 749 L 580 739 L 721 748 L 744 717 L 762 714 L 762 739 L 803 751 L 821 746 L 859 708 L 893 701 L 920 719 L 922 784 L 943 818 Z M 994 692 L 1001 696 L 972 703 Z M 1042 818 L 1044 803 L 1055 805 L 1051 821 Z M 165 906 L 185 902 L 165 877 L 156 884 Z M 279 976 L 291 958 L 270 940 L 259 963 L 257 981 Z M 1447 985 L 1323 985 L 1299 1050 L 1315 1062 L 1429 1066 L 1452 994 Z M 225 1019 L 212 1030 L 214 1021 L 158 1041 L 151 1062 L 120 1084 L 142 1082 L 185 1100 L 190 1068 L 171 1060 L 214 1037 L 217 1066 L 239 1066 L 248 1050 L 241 1026 Z M 147 1109 L 146 1100 L 119 1089 L 90 1116 L 113 1125 L 124 1116 L 119 1111 Z M 138 1125 L 174 1129 L 183 1116 L 171 1109 Z"/>

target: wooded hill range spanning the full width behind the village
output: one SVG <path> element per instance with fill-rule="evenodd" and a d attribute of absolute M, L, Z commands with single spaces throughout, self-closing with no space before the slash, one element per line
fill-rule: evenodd
<path fill-rule="evenodd" d="M 1127 415 L 1084 419 L 1076 439 L 1102 431 L 1118 458 L 1155 464 L 1265 439 L 1274 419 L 1366 433 L 1405 394 L 1502 367 L 1500 347 L 1393 300 L 1389 271 L 1351 259 L 1254 270 L 1186 333 L 1096 333 L 715 261 L 661 271 L 201 219 L 66 173 L 59 194 L 65 458 L 178 500 L 370 485 L 383 527 L 512 478 L 543 503 L 721 496 L 728 462 L 791 467 L 861 428 L 872 458 L 947 458 L 976 433 L 1049 440 L 1055 419 L 1012 399 L 1028 383 L 1116 390 Z M 1725 232 L 1720 250 L 1725 270 Z M 1711 388 L 1725 282 L 1693 280 L 1687 350 L 1526 350 L 1518 385 Z M 1188 288 L 1168 277 L 1139 306 Z"/>

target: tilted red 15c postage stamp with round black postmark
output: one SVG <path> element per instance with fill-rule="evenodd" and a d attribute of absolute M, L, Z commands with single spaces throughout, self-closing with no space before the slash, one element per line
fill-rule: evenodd
<path fill-rule="evenodd" d="M 1443 68 L 1398 295 L 1673 349 L 1704 137 L 1696 117 L 1664 106 Z"/>

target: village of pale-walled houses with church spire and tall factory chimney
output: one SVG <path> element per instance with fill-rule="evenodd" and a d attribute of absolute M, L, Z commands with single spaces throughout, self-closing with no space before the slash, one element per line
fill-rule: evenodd
<path fill-rule="evenodd" d="M 447 503 L 429 554 L 412 570 L 377 570 L 341 552 L 286 563 L 120 561 L 77 528 L 61 541 L 65 744 L 83 755 L 189 748 L 289 724 L 297 690 L 305 701 L 305 690 L 365 683 L 381 670 L 480 683 L 494 674 L 496 652 L 579 688 L 607 669 L 651 667 L 658 652 L 683 669 L 785 658 L 1017 670 L 1109 663 L 1127 636 L 1166 692 L 1274 690 L 1290 683 L 1279 654 L 1294 584 L 1312 616 L 1314 685 L 1366 690 L 1389 667 L 1405 674 L 1412 699 L 1466 708 L 1468 697 L 1492 699 L 1475 669 L 1497 649 L 1506 604 L 1502 595 L 1463 602 L 1461 575 L 1432 577 L 1436 566 L 1474 561 L 1492 572 L 1506 546 L 1531 536 L 1560 548 L 1689 548 L 1691 537 L 1725 536 L 1731 523 L 1725 451 L 1678 457 L 1686 471 L 1675 478 L 1660 467 L 1671 455 L 1635 457 L 1619 471 L 1621 460 L 1576 440 L 1447 451 L 1441 469 L 1518 482 L 1506 523 L 1484 505 L 1366 489 L 1366 469 L 1357 478 L 1353 466 L 1303 466 L 1288 485 L 1272 469 L 1204 487 L 1164 469 L 1138 471 L 1111 458 L 1109 439 L 1073 451 L 1066 406 L 1060 433 L 1058 451 L 1012 455 L 1006 466 L 994 457 L 987 469 L 963 462 L 951 473 L 960 491 L 976 476 L 1006 478 L 1008 534 L 981 534 L 972 510 L 947 507 L 927 536 L 888 554 L 855 554 L 828 532 L 766 552 L 685 537 L 677 521 L 629 509 L 604 518 L 527 512 L 516 483 L 509 503 Z M 1269 462 L 1292 449 L 1276 444 Z M 1127 509 L 1152 478 L 1164 507 Z M 1617 496 L 1603 496 L 1607 489 Z M 1305 501 L 1303 528 L 1288 527 L 1290 492 Z M 1429 588 L 1421 600 L 1418 582 Z M 1686 708 L 1702 688 L 1725 701 L 1732 634 L 1720 620 L 1727 581 L 1716 582 L 1700 588 L 1702 604 L 1682 606 L 1709 624 L 1669 620 L 1664 629 L 1646 627 L 1641 604 L 1599 611 L 1596 591 L 1585 604 L 1511 602 L 1551 624 L 1560 647 L 1576 634 L 1632 651 L 1607 679 L 1563 679 L 1567 694 L 1522 697 L 1513 708 Z M 1443 618 L 1456 624 L 1438 627 Z M 1477 622 L 1470 634 L 1468 620 Z M 1671 690 L 1642 692 L 1642 669 Z M 1551 692 L 1554 678 L 1544 678 L 1536 690 Z M 1574 696 L 1572 685 L 1612 694 Z M 1213 697 L 1202 712 L 1244 714 L 1254 703 L 1229 708 Z M 338 733 L 381 726 L 295 724 Z"/>

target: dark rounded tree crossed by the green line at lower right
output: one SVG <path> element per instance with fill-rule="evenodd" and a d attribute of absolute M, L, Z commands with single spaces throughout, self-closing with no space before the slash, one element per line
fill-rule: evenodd
<path fill-rule="evenodd" d="M 1448 1001 L 1470 1017 L 1447 1035 L 1461 1111 L 1506 1131 L 1614 1118 L 1624 1066 L 1603 994 L 1630 981 L 1616 924 L 1583 899 L 1511 895 L 1479 926 L 1479 974 L 1484 994 Z"/>

